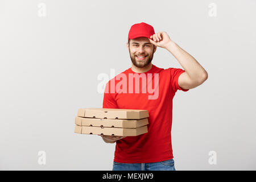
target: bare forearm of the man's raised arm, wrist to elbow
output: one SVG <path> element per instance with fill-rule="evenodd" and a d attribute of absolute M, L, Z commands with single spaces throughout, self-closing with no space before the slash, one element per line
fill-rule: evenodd
<path fill-rule="evenodd" d="M 181 67 L 189 75 L 191 80 L 205 79 L 208 77 L 207 71 L 189 53 L 180 48 L 175 42 L 171 41 L 166 49 L 179 61 Z"/>

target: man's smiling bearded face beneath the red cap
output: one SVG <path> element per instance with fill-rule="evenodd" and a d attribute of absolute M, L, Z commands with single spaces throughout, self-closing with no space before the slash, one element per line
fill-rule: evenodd
<path fill-rule="evenodd" d="M 127 43 L 127 47 L 129 48 L 131 62 L 138 68 L 150 64 L 156 51 L 156 47 L 145 37 L 130 39 L 130 45 Z"/>

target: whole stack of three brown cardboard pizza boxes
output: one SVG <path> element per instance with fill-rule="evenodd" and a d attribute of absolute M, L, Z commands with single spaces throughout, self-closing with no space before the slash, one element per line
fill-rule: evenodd
<path fill-rule="evenodd" d="M 137 136 L 147 133 L 148 111 L 135 109 L 79 109 L 75 133 Z"/>

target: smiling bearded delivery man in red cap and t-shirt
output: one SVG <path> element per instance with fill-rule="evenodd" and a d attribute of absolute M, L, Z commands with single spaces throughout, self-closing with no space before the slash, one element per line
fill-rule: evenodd
<path fill-rule="evenodd" d="M 126 45 L 130 53 L 131 68 L 108 82 L 103 108 L 143 109 L 148 110 L 150 116 L 148 133 L 136 137 L 101 136 L 106 143 L 116 142 L 113 171 L 175 171 L 171 144 L 172 99 L 178 89 L 187 92 L 203 84 L 208 78 L 208 73 L 191 55 L 177 46 L 166 32 L 155 34 L 154 28 L 147 23 L 131 26 Z M 151 61 L 156 47 L 171 52 L 184 70 L 163 69 L 153 65 Z M 131 75 L 139 76 L 142 80 L 147 79 L 146 86 L 142 85 L 143 81 L 139 82 L 139 93 L 138 90 L 134 91 L 136 85 L 129 80 Z M 136 76 L 132 78 L 136 79 Z M 150 97 L 153 94 L 149 93 L 150 87 L 148 87 L 153 84 L 152 80 L 154 80 L 154 92 L 158 92 L 154 93 L 154 97 Z M 142 92 L 143 89 L 148 89 L 148 92 Z M 131 92 L 128 93 L 127 90 Z"/>

